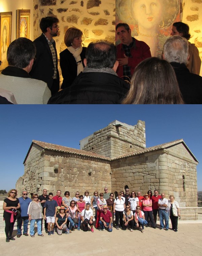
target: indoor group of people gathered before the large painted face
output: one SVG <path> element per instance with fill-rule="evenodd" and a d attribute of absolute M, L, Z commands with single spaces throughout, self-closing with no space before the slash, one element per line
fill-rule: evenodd
<path fill-rule="evenodd" d="M 83 32 L 68 28 L 64 36 L 67 48 L 60 52 L 63 82 L 59 91 L 53 39 L 58 35 L 58 23 L 56 17 L 42 18 L 42 34 L 34 42 L 23 37 L 11 42 L 7 50 L 9 66 L 0 75 L 4 99 L 7 90 L 18 104 L 202 103 L 201 59 L 196 46 L 188 42 L 191 35 L 187 24 L 173 24 L 162 59 L 151 57 L 149 46 L 132 37 L 126 23 L 116 25 L 121 42 L 116 47 L 107 41 L 83 47 Z"/>

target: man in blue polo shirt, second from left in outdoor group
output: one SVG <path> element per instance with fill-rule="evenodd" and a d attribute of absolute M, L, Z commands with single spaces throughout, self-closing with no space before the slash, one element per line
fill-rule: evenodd
<path fill-rule="evenodd" d="M 20 211 L 21 211 L 21 218 L 17 220 L 17 237 L 21 237 L 22 231 L 22 223 L 23 223 L 23 235 L 28 236 L 28 223 L 29 223 L 29 216 L 27 214 L 29 204 L 32 202 L 32 200 L 27 197 L 28 192 L 23 191 L 22 192 L 22 197 L 19 198 L 20 202 Z"/>

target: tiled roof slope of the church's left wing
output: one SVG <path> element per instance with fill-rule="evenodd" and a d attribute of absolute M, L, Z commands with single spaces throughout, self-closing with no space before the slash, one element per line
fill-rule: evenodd
<path fill-rule="evenodd" d="M 64 147 L 56 144 L 51 144 L 47 142 L 42 142 L 38 140 L 33 140 L 32 143 L 48 150 L 53 150 L 53 151 L 59 151 L 59 152 L 64 152 L 64 153 L 71 153 L 71 154 L 77 154 L 77 155 L 83 155 L 85 157 L 93 157 L 93 158 L 99 158 L 103 160 L 110 160 L 108 157 L 104 157 L 103 155 L 99 155 L 93 152 L 85 151 L 85 150 L 80 150 L 80 149 L 75 149 L 75 148 L 70 148 L 70 147 Z"/>

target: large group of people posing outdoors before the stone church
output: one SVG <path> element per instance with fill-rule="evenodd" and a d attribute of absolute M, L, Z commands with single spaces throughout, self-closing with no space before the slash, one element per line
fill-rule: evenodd
<path fill-rule="evenodd" d="M 44 218 L 44 228 L 48 235 L 53 235 L 54 231 L 58 235 L 62 233 L 68 234 L 80 230 L 81 221 L 83 231 L 88 231 L 88 225 L 91 232 L 93 229 L 93 209 L 95 209 L 95 227 L 99 231 L 105 228 L 112 232 L 113 220 L 115 216 L 115 227 L 117 230 L 129 229 L 131 232 L 137 227 L 144 233 L 144 227 L 149 225 L 156 228 L 157 213 L 160 219 L 160 229 L 168 230 L 168 219 L 170 216 L 172 230 L 177 232 L 177 221 L 180 216 L 178 203 L 174 200 L 174 196 L 170 196 L 170 200 L 165 198 L 165 194 L 161 196 L 158 191 L 149 190 L 144 196 L 138 191 L 129 194 L 129 188 L 117 193 L 114 199 L 114 193 L 109 193 L 104 188 L 104 193 L 98 195 L 98 191 L 93 193 L 91 197 L 88 191 L 85 195 L 80 195 L 77 191 L 72 198 L 69 191 L 65 191 L 64 197 L 58 190 L 56 196 L 53 193 L 47 195 L 47 190 L 43 190 L 43 194 L 33 194 L 31 200 L 28 192 L 23 191 L 22 197 L 17 198 L 17 191 L 12 189 L 8 192 L 8 197 L 3 203 L 3 217 L 5 220 L 6 242 L 15 240 L 12 237 L 13 227 L 17 219 L 17 237 L 22 235 L 28 236 L 28 223 L 30 221 L 30 236 L 35 236 L 34 225 L 37 223 L 38 236 L 42 234 L 42 223 Z"/>

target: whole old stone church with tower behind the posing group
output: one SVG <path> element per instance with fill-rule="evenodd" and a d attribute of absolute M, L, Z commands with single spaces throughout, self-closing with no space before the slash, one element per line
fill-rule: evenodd
<path fill-rule="evenodd" d="M 175 196 L 181 207 L 197 206 L 197 159 L 182 139 L 146 148 L 145 122 L 132 126 L 117 120 L 80 141 L 80 150 L 33 140 L 24 160 L 18 191 L 60 189 L 130 192 L 157 189 Z"/>

